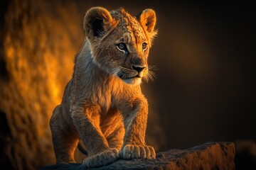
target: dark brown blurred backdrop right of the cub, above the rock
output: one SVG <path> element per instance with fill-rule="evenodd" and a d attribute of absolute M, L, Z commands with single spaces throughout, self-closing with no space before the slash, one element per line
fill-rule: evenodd
<path fill-rule="evenodd" d="M 110 10 L 123 6 L 134 15 L 144 8 L 156 11 L 159 35 L 149 63 L 158 70 L 155 81 L 143 84 L 143 88 L 149 112 L 157 114 L 166 139 L 160 150 L 192 147 L 208 140 L 255 142 L 254 5 L 162 1 L 88 4 Z"/>

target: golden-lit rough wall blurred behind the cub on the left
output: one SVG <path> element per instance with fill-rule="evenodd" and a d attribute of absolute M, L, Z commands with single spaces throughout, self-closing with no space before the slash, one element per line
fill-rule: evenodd
<path fill-rule="evenodd" d="M 59 6 L 53 14 L 43 1 L 31 1 L 29 6 L 13 1 L 5 16 L 3 59 L 9 80 L 0 81 L 0 108 L 17 148 L 29 144 L 17 154 L 27 155 L 26 162 L 37 166 L 55 162 L 49 120 L 61 102 L 82 44 L 82 15 L 70 6 Z M 45 156 L 36 162 L 36 155 Z M 13 159 L 23 162 L 22 157 Z"/>

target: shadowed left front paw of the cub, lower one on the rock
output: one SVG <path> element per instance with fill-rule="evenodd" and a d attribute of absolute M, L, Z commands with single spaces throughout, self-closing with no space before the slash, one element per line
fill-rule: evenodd
<path fill-rule="evenodd" d="M 116 148 L 111 148 L 85 158 L 83 164 L 85 164 L 87 168 L 95 168 L 111 164 L 112 162 L 115 162 L 118 158 L 118 150 Z"/>

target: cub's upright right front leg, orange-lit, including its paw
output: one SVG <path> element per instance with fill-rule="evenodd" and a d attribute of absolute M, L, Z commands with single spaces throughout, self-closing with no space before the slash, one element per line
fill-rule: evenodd
<path fill-rule="evenodd" d="M 123 159 L 155 159 L 156 153 L 153 147 L 146 145 L 146 120 L 148 104 L 146 98 L 139 99 L 133 103 L 134 107 L 128 106 L 124 109 L 124 145 L 120 156 Z"/>

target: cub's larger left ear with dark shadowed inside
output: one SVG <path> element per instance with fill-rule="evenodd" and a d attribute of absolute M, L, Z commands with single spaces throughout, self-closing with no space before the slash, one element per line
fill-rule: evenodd
<path fill-rule="evenodd" d="M 89 39 L 100 38 L 112 26 L 112 16 L 107 9 L 93 7 L 85 14 L 83 29 Z"/>

